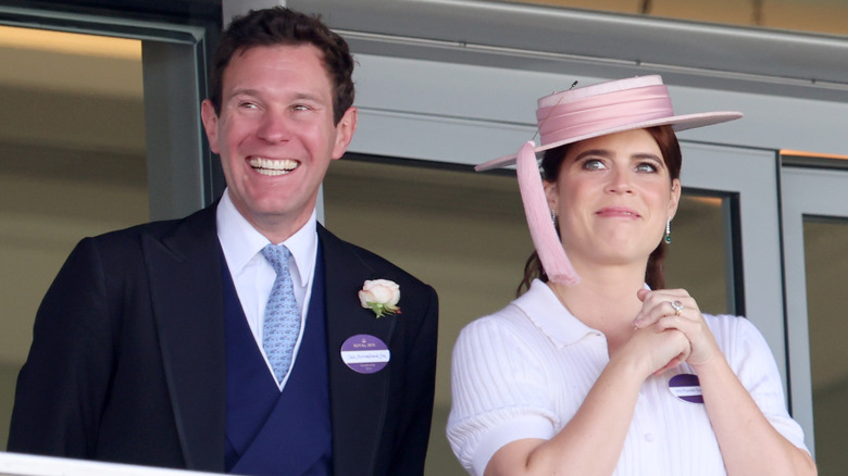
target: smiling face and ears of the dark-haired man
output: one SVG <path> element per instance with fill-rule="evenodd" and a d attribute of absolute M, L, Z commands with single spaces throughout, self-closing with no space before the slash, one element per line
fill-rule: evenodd
<path fill-rule="evenodd" d="M 307 222 L 329 162 L 353 136 L 354 108 L 333 124 L 333 91 L 314 46 L 253 47 L 234 54 L 224 72 L 221 113 L 203 102 L 229 197 L 272 241 Z"/>

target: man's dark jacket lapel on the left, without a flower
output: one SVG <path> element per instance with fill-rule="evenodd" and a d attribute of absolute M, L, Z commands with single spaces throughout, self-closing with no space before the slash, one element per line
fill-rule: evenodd
<path fill-rule="evenodd" d="M 226 371 L 215 204 L 142 237 L 150 299 L 186 466 L 224 469 Z"/>

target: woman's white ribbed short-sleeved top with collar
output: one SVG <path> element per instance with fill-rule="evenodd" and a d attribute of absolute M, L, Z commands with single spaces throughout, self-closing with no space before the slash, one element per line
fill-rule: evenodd
<path fill-rule="evenodd" d="M 704 315 L 724 356 L 765 417 L 803 448 L 786 411 L 777 365 L 746 318 Z M 574 317 L 544 283 L 501 311 L 467 325 L 453 348 L 448 440 L 462 465 L 483 475 L 504 444 L 550 439 L 577 412 L 609 363 L 607 339 Z M 641 387 L 614 475 L 724 475 L 702 403 L 675 397 L 670 379 L 687 364 Z"/>

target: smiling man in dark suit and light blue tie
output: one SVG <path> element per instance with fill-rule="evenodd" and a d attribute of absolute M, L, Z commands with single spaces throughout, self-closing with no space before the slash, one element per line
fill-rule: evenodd
<path fill-rule="evenodd" d="M 36 316 L 10 451 L 423 473 L 436 293 L 315 221 L 357 126 L 352 65 L 316 18 L 275 8 L 230 24 L 201 111 L 227 189 L 186 218 L 80 241 Z M 294 326 L 282 358 L 266 341 L 278 322 Z"/>

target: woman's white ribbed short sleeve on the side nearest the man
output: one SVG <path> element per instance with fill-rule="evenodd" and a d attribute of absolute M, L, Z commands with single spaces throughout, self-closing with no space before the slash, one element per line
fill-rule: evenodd
<path fill-rule="evenodd" d="M 520 313 L 514 306 L 504 312 Z M 495 452 L 509 442 L 554 435 L 549 379 L 539 355 L 520 337 L 535 329 L 502 317 L 470 324 L 453 348 L 447 434 L 473 475 L 483 475 Z"/>

